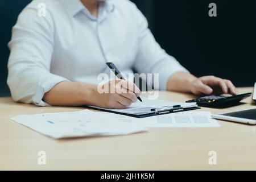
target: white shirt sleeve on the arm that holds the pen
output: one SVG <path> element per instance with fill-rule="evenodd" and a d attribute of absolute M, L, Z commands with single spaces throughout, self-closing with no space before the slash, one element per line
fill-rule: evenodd
<path fill-rule="evenodd" d="M 9 43 L 7 84 L 14 101 L 49 106 L 42 101 L 45 93 L 66 78 L 50 73 L 54 26 L 49 11 L 38 16 L 37 7 L 28 5 L 13 27 Z"/>

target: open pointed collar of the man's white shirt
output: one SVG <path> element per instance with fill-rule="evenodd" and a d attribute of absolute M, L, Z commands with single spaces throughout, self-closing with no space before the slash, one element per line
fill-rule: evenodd
<path fill-rule="evenodd" d="M 77 15 L 83 10 L 87 10 L 80 0 L 72 0 L 72 1 L 66 0 L 66 1 L 67 1 L 67 9 L 69 11 L 69 14 L 71 14 L 72 16 Z M 112 0 L 106 0 L 105 2 L 101 2 L 101 3 L 104 3 L 104 9 L 108 13 L 112 13 L 114 11 L 115 5 L 112 2 Z"/>

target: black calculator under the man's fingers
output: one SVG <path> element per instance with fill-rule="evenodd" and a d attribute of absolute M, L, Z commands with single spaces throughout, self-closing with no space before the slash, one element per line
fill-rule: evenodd
<path fill-rule="evenodd" d="M 250 97 L 251 93 L 245 93 L 237 96 L 205 96 L 200 97 L 195 100 L 190 100 L 187 102 L 196 102 L 198 106 L 201 107 L 230 107 L 235 106 L 240 103 L 246 97 Z"/>

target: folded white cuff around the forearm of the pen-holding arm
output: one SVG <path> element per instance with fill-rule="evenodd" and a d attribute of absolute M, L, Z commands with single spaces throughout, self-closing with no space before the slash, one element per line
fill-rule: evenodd
<path fill-rule="evenodd" d="M 63 81 L 69 81 L 66 78 L 55 75 L 54 77 L 44 80 L 43 82 L 39 81 L 38 88 L 35 96 L 32 98 L 32 102 L 37 106 L 51 106 L 43 101 L 44 94 L 49 92 L 55 85 Z"/>

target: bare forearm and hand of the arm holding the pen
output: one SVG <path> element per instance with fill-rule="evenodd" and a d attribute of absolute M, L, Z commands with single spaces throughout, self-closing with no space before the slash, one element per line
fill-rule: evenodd
<path fill-rule="evenodd" d="M 102 89 L 108 88 L 105 93 Z M 112 93 L 110 93 L 112 91 Z M 125 109 L 141 94 L 139 88 L 125 80 L 113 80 L 104 85 L 63 81 L 44 94 L 43 101 L 52 106 L 98 106 Z"/>

